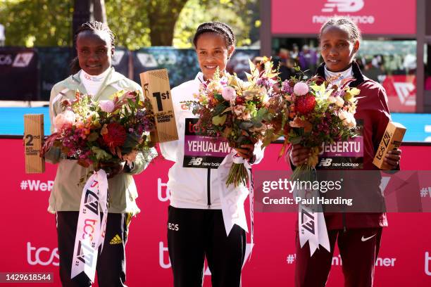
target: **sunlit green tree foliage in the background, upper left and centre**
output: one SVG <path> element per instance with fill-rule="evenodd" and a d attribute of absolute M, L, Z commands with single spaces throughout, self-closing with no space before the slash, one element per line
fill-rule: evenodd
<path fill-rule="evenodd" d="M 73 2 L 0 0 L 6 45 L 72 46 Z M 105 0 L 105 6 L 117 46 L 132 50 L 151 44 L 192 47 L 196 27 L 211 20 L 231 25 L 237 46 L 244 46 L 256 41 L 260 25 L 257 0 Z"/>

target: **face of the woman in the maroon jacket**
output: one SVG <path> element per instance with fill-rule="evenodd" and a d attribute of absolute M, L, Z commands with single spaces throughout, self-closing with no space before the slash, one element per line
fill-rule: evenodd
<path fill-rule="evenodd" d="M 359 41 L 352 42 L 349 34 L 337 26 L 327 26 L 320 35 L 320 53 L 327 70 L 341 72 L 354 60 Z"/>

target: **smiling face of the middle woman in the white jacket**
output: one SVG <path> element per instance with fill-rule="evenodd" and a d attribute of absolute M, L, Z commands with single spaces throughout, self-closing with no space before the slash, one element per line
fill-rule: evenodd
<path fill-rule="evenodd" d="M 213 32 L 201 34 L 196 41 L 196 53 L 204 79 L 212 79 L 217 66 L 220 71 L 224 71 L 227 58 L 233 51 L 234 47 L 227 47 L 225 38 L 220 34 Z"/>

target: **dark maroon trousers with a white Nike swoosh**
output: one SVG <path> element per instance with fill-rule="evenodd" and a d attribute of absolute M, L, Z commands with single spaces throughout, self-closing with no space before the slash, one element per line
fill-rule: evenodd
<path fill-rule="evenodd" d="M 296 232 L 296 287 L 325 286 L 330 273 L 335 242 L 342 259 L 345 287 L 371 287 L 374 267 L 380 250 L 382 227 L 328 230 L 331 252 L 320 246 L 310 257 L 308 242 L 301 248 Z"/>

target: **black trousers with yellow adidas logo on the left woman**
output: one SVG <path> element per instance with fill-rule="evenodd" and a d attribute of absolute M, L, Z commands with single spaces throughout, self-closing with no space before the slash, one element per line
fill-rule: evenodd
<path fill-rule="evenodd" d="M 78 216 L 77 211 L 57 212 L 58 255 L 63 286 L 91 286 L 83 272 L 70 279 Z M 108 213 L 104 249 L 96 264 L 97 282 L 101 287 L 125 286 L 125 244 L 131 218 L 130 213 Z"/>

